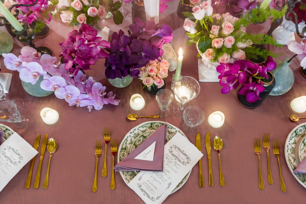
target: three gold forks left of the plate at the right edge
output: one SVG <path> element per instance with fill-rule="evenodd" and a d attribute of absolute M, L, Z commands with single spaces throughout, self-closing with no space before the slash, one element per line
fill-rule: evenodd
<path fill-rule="evenodd" d="M 273 178 L 272 178 L 272 174 L 271 174 L 271 169 L 270 169 L 270 157 L 269 157 L 269 149 L 270 149 L 270 133 L 265 133 L 263 135 L 263 148 L 265 150 L 267 150 L 267 158 L 268 158 L 268 184 L 273 184 Z M 261 175 L 261 167 L 260 167 L 260 154 L 261 154 L 261 139 L 260 138 L 256 138 L 255 139 L 255 143 L 254 143 L 254 151 L 255 154 L 257 154 L 258 156 L 258 163 L 259 163 L 259 189 L 263 190 L 264 189 L 264 185 L 263 185 L 263 178 Z M 273 154 L 275 155 L 275 157 L 277 157 L 278 160 L 278 168 L 279 168 L 279 174 L 280 174 L 280 185 L 281 185 L 281 190 L 283 192 L 286 192 L 286 186 L 285 186 L 285 182 L 282 176 L 282 169 L 281 169 L 281 164 L 279 161 L 279 140 L 278 139 L 274 139 L 273 141 Z"/>

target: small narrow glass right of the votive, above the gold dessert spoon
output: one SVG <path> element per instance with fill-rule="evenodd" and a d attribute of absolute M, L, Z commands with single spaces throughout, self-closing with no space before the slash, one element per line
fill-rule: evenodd
<path fill-rule="evenodd" d="M 157 108 L 157 114 L 159 117 L 168 117 L 171 113 L 169 106 L 173 101 L 172 92 L 168 89 L 159 90 L 155 98 L 159 106 L 159 108 Z"/>

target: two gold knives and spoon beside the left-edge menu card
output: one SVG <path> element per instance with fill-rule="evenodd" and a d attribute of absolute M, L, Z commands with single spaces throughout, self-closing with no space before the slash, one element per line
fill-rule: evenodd
<path fill-rule="evenodd" d="M 38 150 L 39 140 L 40 140 L 40 134 L 37 135 L 37 137 L 34 141 L 33 147 L 34 147 L 35 150 Z M 51 157 L 52 157 L 52 154 L 57 149 L 57 143 L 56 143 L 55 139 L 50 138 L 49 141 L 48 141 L 48 134 L 46 134 L 43 137 L 43 141 L 41 143 L 39 165 L 38 165 L 36 178 L 35 178 L 35 182 L 34 182 L 34 188 L 39 187 L 40 172 L 41 172 L 41 167 L 43 165 L 43 156 L 45 154 L 46 148 L 47 148 L 47 151 L 49 152 L 50 156 L 49 156 L 49 162 L 48 162 L 46 177 L 45 177 L 45 180 L 44 180 L 44 183 L 43 183 L 43 188 L 44 189 L 46 189 L 48 187 L 48 184 L 49 184 L 49 169 L 50 169 Z M 32 160 L 31 160 L 30 170 L 29 170 L 29 173 L 28 173 L 27 181 L 25 183 L 25 188 L 29 188 L 31 186 L 31 179 L 32 179 L 32 172 L 33 172 L 33 166 L 34 166 L 35 158 L 36 158 L 36 156 L 33 157 Z"/>

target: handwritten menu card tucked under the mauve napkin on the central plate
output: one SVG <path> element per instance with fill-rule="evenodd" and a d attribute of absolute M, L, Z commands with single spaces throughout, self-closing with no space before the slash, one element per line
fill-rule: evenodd
<path fill-rule="evenodd" d="M 163 171 L 140 171 L 128 185 L 145 203 L 162 203 L 202 156 L 187 138 L 176 133 L 164 146 Z"/>

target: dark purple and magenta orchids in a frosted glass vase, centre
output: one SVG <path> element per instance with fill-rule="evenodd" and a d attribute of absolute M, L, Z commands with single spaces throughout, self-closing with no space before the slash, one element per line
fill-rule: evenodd
<path fill-rule="evenodd" d="M 109 56 L 105 60 L 105 75 L 116 87 L 129 85 L 133 78 L 138 78 L 138 68 L 146 66 L 150 60 L 162 56 L 162 45 L 173 39 L 173 31 L 168 25 L 159 27 L 154 21 L 145 23 L 135 18 L 135 24 L 129 26 L 130 35 L 122 30 L 114 32 L 110 41 Z"/>

